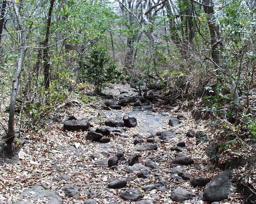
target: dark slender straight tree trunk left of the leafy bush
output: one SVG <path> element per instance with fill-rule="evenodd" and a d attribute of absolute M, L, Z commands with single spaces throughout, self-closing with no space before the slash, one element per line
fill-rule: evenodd
<path fill-rule="evenodd" d="M 46 36 L 43 43 L 44 51 L 43 51 L 43 61 L 44 61 L 44 87 L 45 89 L 49 89 L 50 87 L 50 52 L 49 52 L 49 38 L 50 38 L 50 26 L 52 20 L 52 9 L 55 0 L 51 0 L 48 19 L 47 19 L 47 26 L 46 26 Z"/>

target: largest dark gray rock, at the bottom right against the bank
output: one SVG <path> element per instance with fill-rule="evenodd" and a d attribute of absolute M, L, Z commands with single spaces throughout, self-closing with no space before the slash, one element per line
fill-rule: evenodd
<path fill-rule="evenodd" d="M 214 202 L 227 199 L 233 191 L 230 176 L 230 171 L 224 171 L 222 174 L 215 176 L 205 188 L 204 200 Z"/>

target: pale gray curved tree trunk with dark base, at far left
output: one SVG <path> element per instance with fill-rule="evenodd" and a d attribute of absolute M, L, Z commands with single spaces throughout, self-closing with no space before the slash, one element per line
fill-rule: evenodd
<path fill-rule="evenodd" d="M 17 5 L 14 3 L 14 13 L 16 15 L 16 20 L 18 23 L 18 31 L 20 32 L 21 35 L 21 41 L 22 41 L 22 48 L 20 51 L 20 56 L 18 59 L 18 66 L 16 68 L 16 71 L 13 76 L 13 87 L 12 87 L 12 93 L 11 93 L 11 98 L 10 98 L 10 112 L 9 112 L 9 120 L 8 120 L 8 132 L 7 135 L 5 136 L 5 155 L 6 156 L 12 156 L 13 155 L 13 139 L 15 137 L 15 131 L 14 131 L 14 112 L 15 112 L 15 105 L 16 105 L 16 98 L 18 94 L 18 85 L 19 85 L 19 80 L 21 77 L 21 71 L 23 67 L 23 62 L 24 58 L 26 55 L 26 50 L 27 50 L 27 42 L 26 42 L 26 36 L 25 36 L 25 31 L 21 22 L 21 17 L 19 14 L 19 10 L 17 8 Z"/>

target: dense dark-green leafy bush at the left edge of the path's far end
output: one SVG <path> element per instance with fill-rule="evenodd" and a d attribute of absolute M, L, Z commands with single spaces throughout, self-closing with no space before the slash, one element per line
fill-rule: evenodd
<path fill-rule="evenodd" d="M 114 83 L 121 76 L 114 62 L 110 61 L 104 48 L 94 47 L 81 68 L 81 78 L 94 85 L 96 92 L 100 92 L 107 82 Z"/>

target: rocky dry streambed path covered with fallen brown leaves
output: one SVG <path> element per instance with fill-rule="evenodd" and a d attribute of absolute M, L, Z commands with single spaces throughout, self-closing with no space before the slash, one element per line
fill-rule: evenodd
<path fill-rule="evenodd" d="M 205 122 L 164 104 L 115 85 L 61 107 L 62 121 L 21 135 L 18 162 L 2 163 L 0 203 L 243 203 L 232 171 L 210 163 Z"/>

